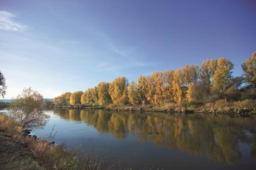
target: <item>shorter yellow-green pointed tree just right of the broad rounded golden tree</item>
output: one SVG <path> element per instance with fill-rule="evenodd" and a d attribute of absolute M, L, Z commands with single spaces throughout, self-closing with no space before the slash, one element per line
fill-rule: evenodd
<path fill-rule="evenodd" d="M 141 98 L 140 98 L 140 94 L 139 94 L 138 85 L 135 81 L 132 81 L 129 84 L 128 97 L 129 97 L 129 102 L 132 105 L 138 105 L 138 104 L 141 103 Z"/>

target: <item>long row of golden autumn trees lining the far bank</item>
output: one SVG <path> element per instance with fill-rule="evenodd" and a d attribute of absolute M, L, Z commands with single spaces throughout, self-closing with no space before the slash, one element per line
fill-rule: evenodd
<path fill-rule="evenodd" d="M 243 64 L 244 74 L 233 77 L 233 63 L 226 58 L 210 59 L 201 65 L 156 71 L 128 82 L 118 77 L 84 92 L 66 92 L 54 99 L 56 105 L 161 105 L 165 103 L 210 103 L 219 99 L 255 99 L 256 52 Z"/>

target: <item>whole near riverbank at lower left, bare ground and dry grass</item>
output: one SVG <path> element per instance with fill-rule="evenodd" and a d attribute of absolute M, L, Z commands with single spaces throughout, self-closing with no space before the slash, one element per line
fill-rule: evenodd
<path fill-rule="evenodd" d="M 0 169 L 101 169 L 91 155 L 80 157 L 62 144 L 36 139 L 6 115 L 0 115 L 0 132 Z"/>

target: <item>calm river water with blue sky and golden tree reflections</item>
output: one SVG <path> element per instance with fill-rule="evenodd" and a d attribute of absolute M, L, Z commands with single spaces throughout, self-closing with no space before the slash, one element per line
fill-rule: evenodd
<path fill-rule="evenodd" d="M 256 119 L 196 114 L 46 110 L 55 142 L 111 169 L 256 169 Z M 119 168 L 120 166 L 120 168 Z"/>

